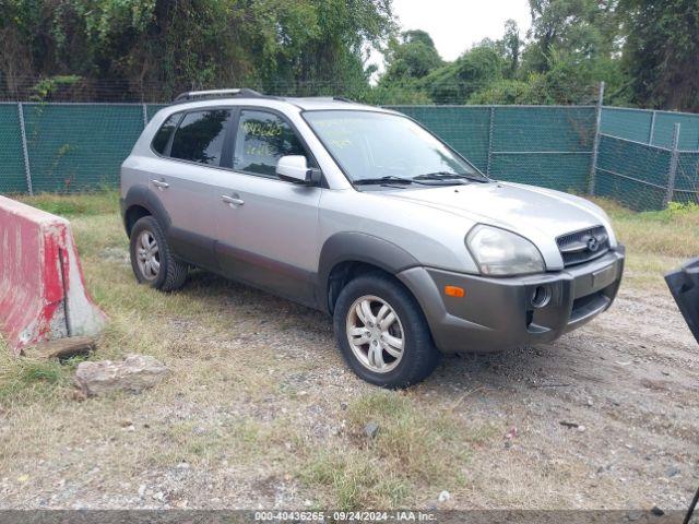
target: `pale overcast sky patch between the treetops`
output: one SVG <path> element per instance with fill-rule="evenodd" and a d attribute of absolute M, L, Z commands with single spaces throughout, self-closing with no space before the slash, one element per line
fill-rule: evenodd
<path fill-rule="evenodd" d="M 483 38 L 497 39 L 513 19 L 525 36 L 532 19 L 528 0 L 393 0 L 402 31 L 424 29 L 445 60 L 454 60 Z"/>

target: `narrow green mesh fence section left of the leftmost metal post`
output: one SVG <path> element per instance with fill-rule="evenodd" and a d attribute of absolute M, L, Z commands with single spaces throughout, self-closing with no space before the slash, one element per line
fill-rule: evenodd
<path fill-rule="evenodd" d="M 28 190 L 16 104 L 0 104 L 0 193 Z"/>

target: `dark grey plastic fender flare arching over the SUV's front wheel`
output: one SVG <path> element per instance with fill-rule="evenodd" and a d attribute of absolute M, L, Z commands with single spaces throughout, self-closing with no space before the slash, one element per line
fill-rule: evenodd
<path fill-rule="evenodd" d="M 318 262 L 318 305 L 330 312 L 330 274 L 343 262 L 364 262 L 395 275 L 420 263 L 395 243 L 365 233 L 337 233 L 325 240 Z"/>

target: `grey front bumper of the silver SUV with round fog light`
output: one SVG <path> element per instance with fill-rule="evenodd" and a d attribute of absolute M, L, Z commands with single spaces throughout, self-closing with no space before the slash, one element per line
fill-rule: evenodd
<path fill-rule="evenodd" d="M 552 342 L 580 327 L 609 308 L 623 272 L 619 246 L 556 273 L 494 278 L 411 267 L 398 277 L 417 298 L 440 350 L 485 353 Z M 445 286 L 462 287 L 465 296 L 446 296 Z M 540 286 L 548 300 L 535 308 L 531 298 Z"/>

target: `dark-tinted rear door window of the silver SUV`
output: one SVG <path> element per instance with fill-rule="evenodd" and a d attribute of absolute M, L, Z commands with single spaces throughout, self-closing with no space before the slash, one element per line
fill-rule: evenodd
<path fill-rule="evenodd" d="M 229 109 L 188 112 L 175 131 L 170 156 L 217 166 L 229 120 Z"/>

